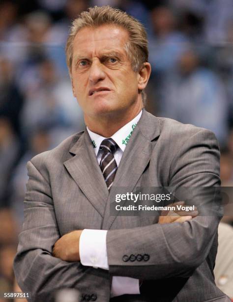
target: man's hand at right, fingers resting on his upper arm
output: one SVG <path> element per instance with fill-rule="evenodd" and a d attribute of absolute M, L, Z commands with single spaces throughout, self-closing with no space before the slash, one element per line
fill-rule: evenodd
<path fill-rule="evenodd" d="M 184 201 L 178 201 L 174 204 L 171 204 L 170 206 L 176 205 L 184 205 Z M 188 216 L 187 216 L 188 214 Z M 177 209 L 175 211 L 162 211 L 161 216 L 159 217 L 159 224 L 171 224 L 174 222 L 183 223 L 187 220 L 190 220 L 198 215 L 197 208 L 195 207 L 195 211 L 178 211 Z"/>

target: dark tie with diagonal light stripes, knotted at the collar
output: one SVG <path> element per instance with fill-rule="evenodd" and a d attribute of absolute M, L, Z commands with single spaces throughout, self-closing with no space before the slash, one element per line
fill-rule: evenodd
<path fill-rule="evenodd" d="M 113 155 L 117 148 L 117 143 L 111 138 L 103 140 L 100 145 L 100 150 L 103 150 L 104 152 L 99 165 L 108 190 L 111 189 L 117 173 L 117 162 Z"/>

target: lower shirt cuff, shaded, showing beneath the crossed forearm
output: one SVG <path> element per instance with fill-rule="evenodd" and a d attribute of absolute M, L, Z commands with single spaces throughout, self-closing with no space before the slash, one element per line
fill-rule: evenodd
<path fill-rule="evenodd" d="M 112 280 L 111 298 L 125 294 L 140 294 L 139 279 L 115 276 Z"/>

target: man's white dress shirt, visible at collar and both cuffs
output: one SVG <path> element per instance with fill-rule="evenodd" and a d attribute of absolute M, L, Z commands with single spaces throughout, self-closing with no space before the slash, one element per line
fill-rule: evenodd
<path fill-rule="evenodd" d="M 130 122 L 120 128 L 111 138 L 117 143 L 118 149 L 114 153 L 117 166 L 130 139 L 132 131 L 142 115 L 142 111 Z M 93 144 L 95 155 L 100 163 L 103 151 L 99 150 L 100 144 L 106 137 L 98 135 L 87 128 Z M 109 269 L 106 246 L 107 230 L 84 229 L 79 242 L 80 261 L 83 265 L 95 268 Z M 125 294 L 140 294 L 139 279 L 114 276 L 111 287 L 111 297 Z"/>

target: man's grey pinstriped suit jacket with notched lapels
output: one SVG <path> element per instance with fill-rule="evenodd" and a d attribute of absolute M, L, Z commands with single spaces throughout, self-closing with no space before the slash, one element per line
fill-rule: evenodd
<path fill-rule="evenodd" d="M 183 224 L 155 217 L 110 216 L 108 193 L 87 131 L 28 163 L 25 221 L 14 261 L 16 279 L 33 302 L 76 288 L 80 301 L 110 301 L 112 276 L 144 280 L 141 295 L 115 302 L 229 301 L 215 286 L 218 217 Z M 219 186 L 219 149 L 213 133 L 143 110 L 117 169 L 115 187 Z M 58 238 L 75 229 L 107 229 L 109 271 L 52 257 Z M 123 256 L 149 255 L 147 261 Z M 124 260 L 123 260 L 124 259 Z M 83 297 L 83 298 L 82 298 Z"/>

